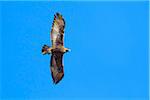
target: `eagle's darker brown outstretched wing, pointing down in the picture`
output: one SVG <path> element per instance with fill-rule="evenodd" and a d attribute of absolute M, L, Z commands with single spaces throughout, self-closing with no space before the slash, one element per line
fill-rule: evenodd
<path fill-rule="evenodd" d="M 55 84 L 57 84 L 64 76 L 63 69 L 63 53 L 60 51 L 53 52 L 51 55 L 51 74 L 52 79 Z"/>

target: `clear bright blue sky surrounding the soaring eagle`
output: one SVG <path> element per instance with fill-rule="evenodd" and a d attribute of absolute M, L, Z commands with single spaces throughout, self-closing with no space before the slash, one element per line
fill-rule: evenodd
<path fill-rule="evenodd" d="M 58 85 L 41 54 L 56 12 L 72 50 Z M 148 99 L 148 2 L 1 2 L 0 24 L 2 99 Z"/>

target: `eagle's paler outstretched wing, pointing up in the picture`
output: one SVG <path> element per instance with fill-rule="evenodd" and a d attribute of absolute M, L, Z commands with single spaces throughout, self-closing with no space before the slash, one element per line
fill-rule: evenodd
<path fill-rule="evenodd" d="M 64 45 L 64 28 L 65 21 L 59 13 L 54 15 L 54 21 L 51 30 L 52 47 L 57 48 Z"/>

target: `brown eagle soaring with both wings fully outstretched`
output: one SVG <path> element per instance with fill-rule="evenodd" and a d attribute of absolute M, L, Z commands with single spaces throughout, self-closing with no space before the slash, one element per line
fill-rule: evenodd
<path fill-rule="evenodd" d="M 63 55 L 70 51 L 64 47 L 64 28 L 65 20 L 60 13 L 54 15 L 50 38 L 52 47 L 44 45 L 42 47 L 42 54 L 51 54 L 50 70 L 54 84 L 64 77 Z"/>

